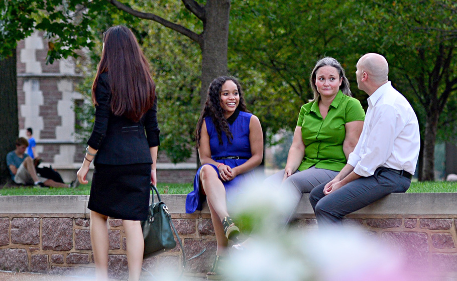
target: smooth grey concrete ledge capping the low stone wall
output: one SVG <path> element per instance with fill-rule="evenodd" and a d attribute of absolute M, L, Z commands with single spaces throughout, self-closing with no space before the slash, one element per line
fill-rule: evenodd
<path fill-rule="evenodd" d="M 161 195 L 171 213 L 185 213 L 186 195 Z M 88 195 L 0 196 L 0 213 L 88 214 Z M 157 202 L 157 199 L 155 199 Z M 457 215 L 457 193 L 394 193 L 354 214 L 448 214 Z M 209 213 L 204 206 L 197 213 Z M 297 214 L 313 215 L 308 194 L 304 194 Z"/>

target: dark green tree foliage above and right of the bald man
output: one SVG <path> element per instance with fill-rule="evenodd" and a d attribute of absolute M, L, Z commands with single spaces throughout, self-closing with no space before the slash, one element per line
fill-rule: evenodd
<path fill-rule="evenodd" d="M 383 54 L 389 78 L 418 115 L 421 133 L 438 112 L 438 139 L 455 137 L 457 23 L 450 1 L 382 1 L 355 5 L 345 34 L 365 52 Z"/>

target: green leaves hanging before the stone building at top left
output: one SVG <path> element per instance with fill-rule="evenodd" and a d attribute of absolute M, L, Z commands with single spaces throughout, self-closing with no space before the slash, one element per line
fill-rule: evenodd
<path fill-rule="evenodd" d="M 104 11 L 101 1 L 90 0 L 10 0 L 1 7 L 0 55 L 8 56 L 19 40 L 35 30 L 44 30 L 50 40 L 47 62 L 78 57 L 77 50 L 92 48 L 90 27 Z M 18 28 L 19 25 L 19 28 Z"/>

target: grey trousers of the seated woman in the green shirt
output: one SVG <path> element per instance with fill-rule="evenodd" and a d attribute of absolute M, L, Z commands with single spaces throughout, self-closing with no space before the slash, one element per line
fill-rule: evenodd
<path fill-rule="evenodd" d="M 337 174 L 338 172 L 335 171 L 311 167 L 304 171 L 297 170 L 293 175 L 282 182 L 282 179 L 284 178 L 284 170 L 281 170 L 278 173 L 268 177 L 264 181 L 264 184 L 273 186 L 275 188 L 280 186 L 280 191 L 289 192 L 292 195 L 292 202 L 290 202 L 290 204 L 294 206 L 294 211 L 289 215 L 287 220 L 289 221 L 295 214 L 295 210 L 300 203 L 303 193 L 309 193 L 311 190 L 313 190 L 313 188 L 321 184 L 325 185 Z"/>

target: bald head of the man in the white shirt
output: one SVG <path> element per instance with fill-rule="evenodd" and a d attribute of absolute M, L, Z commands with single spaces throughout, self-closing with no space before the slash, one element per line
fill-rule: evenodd
<path fill-rule="evenodd" d="M 367 72 L 373 83 L 382 85 L 388 81 L 389 65 L 380 54 L 368 53 L 362 56 L 357 64 L 358 68 Z"/>

